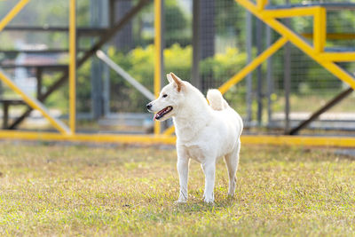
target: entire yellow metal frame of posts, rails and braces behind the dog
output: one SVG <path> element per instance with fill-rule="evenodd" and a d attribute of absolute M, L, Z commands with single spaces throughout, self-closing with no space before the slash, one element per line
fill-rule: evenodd
<path fill-rule="evenodd" d="M 29 0 L 21 0 L 16 6 L 0 21 L 0 31 L 28 4 Z M 348 75 L 341 67 L 335 64 L 335 61 L 355 60 L 355 52 L 324 52 L 326 42 L 326 10 L 321 6 L 309 8 L 293 8 L 292 10 L 264 10 L 265 0 L 257 1 L 253 4 L 248 0 L 236 0 L 244 6 L 249 12 L 269 25 L 280 34 L 280 39 L 272 44 L 266 51 L 260 54 L 256 59 L 250 62 L 246 67 L 225 82 L 219 90 L 222 93 L 228 91 L 234 84 L 248 75 L 257 66 L 262 64 L 274 52 L 278 51 L 288 41 L 294 43 L 298 48 L 307 53 L 312 59 L 319 62 L 329 72 L 337 76 L 343 82 L 348 83 L 355 89 L 355 80 Z M 119 143 L 146 143 L 146 144 L 174 144 L 176 137 L 173 136 L 174 128 L 161 131 L 160 123 L 155 122 L 154 135 L 114 135 L 114 134 L 80 134 L 75 132 L 75 46 L 76 46 L 76 10 L 75 0 L 69 0 L 69 126 L 60 122 L 51 116 L 43 104 L 28 96 L 25 92 L 12 83 L 6 75 L 0 72 L 0 79 L 6 83 L 13 91 L 20 94 L 21 98 L 28 103 L 30 107 L 39 110 L 46 117 L 54 128 L 59 132 L 36 132 L 21 130 L 0 130 L 0 138 L 4 139 L 30 139 L 30 140 L 66 140 L 66 141 L 86 141 L 86 142 L 119 142 Z M 161 15 L 162 0 L 154 0 L 154 44 L 155 44 L 155 67 L 154 67 L 154 94 L 158 96 L 161 89 Z M 313 46 L 306 43 L 300 36 L 297 36 L 292 30 L 280 23 L 278 18 L 312 15 L 314 18 Z M 244 144 L 267 144 L 267 145 L 295 145 L 295 146 L 355 146 L 355 138 L 334 138 L 334 137 L 304 137 L 304 136 L 249 136 L 243 135 L 241 141 Z"/>

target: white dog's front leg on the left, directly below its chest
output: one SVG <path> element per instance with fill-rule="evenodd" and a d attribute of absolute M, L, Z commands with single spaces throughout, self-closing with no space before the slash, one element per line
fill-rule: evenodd
<path fill-rule="evenodd" d="M 177 148 L 177 172 L 180 181 L 180 193 L 177 202 L 187 201 L 187 179 L 188 179 L 189 158 L 185 152 Z"/>

